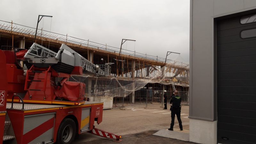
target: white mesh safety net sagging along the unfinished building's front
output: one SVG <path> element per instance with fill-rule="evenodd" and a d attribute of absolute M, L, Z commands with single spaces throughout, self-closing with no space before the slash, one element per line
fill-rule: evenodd
<path fill-rule="evenodd" d="M 68 81 L 84 83 L 86 85 L 85 97 L 126 97 L 131 92 L 140 90 L 148 83 L 176 84 L 187 87 L 189 84 L 189 66 L 177 65 L 177 63 L 167 64 L 162 68 L 150 67 L 148 76 L 144 78 L 130 77 L 124 79 L 124 77 L 72 75 L 68 78 Z M 61 80 L 61 77 L 56 78 L 56 83 Z"/>

